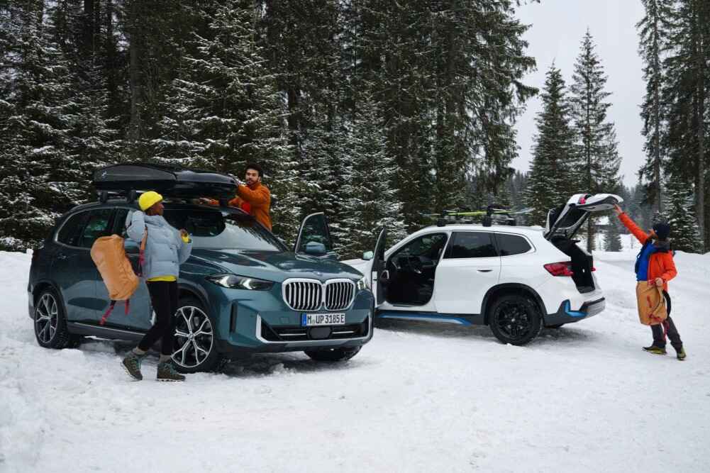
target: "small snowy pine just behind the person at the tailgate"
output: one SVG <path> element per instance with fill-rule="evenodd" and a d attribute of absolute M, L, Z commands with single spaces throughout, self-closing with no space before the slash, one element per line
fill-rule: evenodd
<path fill-rule="evenodd" d="M 688 253 L 702 251 L 692 190 L 679 176 L 667 181 L 665 214 L 671 227 L 673 249 Z"/>

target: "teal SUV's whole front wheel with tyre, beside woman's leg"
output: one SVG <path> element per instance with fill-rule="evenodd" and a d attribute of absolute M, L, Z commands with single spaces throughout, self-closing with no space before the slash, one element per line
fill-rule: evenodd
<path fill-rule="evenodd" d="M 175 312 L 173 364 L 180 373 L 217 371 L 224 359 L 217 352 L 214 320 L 200 300 L 182 298 Z M 190 337 L 192 335 L 192 337 Z"/>

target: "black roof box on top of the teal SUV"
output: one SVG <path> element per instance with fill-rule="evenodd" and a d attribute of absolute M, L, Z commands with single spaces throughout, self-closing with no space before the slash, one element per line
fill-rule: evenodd
<path fill-rule="evenodd" d="M 228 175 L 156 164 L 115 164 L 94 172 L 100 191 L 155 190 L 164 197 L 231 198 L 236 183 Z"/>

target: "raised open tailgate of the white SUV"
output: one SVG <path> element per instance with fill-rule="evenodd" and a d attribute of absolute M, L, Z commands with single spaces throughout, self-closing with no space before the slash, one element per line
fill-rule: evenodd
<path fill-rule="evenodd" d="M 621 204 L 623 199 L 613 194 L 576 194 L 567 203 L 547 212 L 545 238 L 570 239 L 577 233 L 591 212 L 603 212 Z"/>

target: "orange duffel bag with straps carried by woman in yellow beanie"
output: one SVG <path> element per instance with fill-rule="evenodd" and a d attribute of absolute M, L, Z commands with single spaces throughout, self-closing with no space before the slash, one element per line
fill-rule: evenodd
<path fill-rule="evenodd" d="M 91 247 L 91 259 L 94 260 L 101 278 L 104 280 L 107 290 L 109 290 L 109 298 L 111 305 L 101 318 L 101 325 L 106 323 L 111 311 L 114 310 L 116 300 L 126 301 L 126 315 L 129 313 L 131 295 L 136 292 L 138 283 L 140 283 L 141 271 L 143 268 L 143 254 L 146 250 L 146 238 L 148 232 L 143 236 L 141 241 L 141 254 L 138 259 L 138 274 L 133 271 L 131 261 L 126 256 L 124 248 L 124 239 L 118 235 L 111 237 L 101 237 L 94 241 Z"/>

